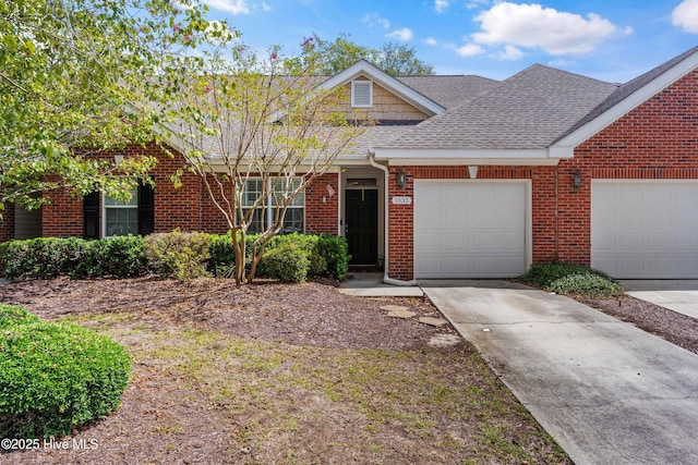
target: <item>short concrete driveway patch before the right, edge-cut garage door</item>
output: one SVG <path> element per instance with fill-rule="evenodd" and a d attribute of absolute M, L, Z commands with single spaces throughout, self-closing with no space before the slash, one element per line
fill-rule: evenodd
<path fill-rule="evenodd" d="M 698 280 L 623 280 L 633 297 L 698 318 Z"/>

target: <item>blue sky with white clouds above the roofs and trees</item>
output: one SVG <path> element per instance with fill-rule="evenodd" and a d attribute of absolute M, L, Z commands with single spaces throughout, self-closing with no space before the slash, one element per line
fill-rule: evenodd
<path fill-rule="evenodd" d="M 698 45 L 698 0 L 203 0 L 261 52 L 316 33 L 407 42 L 437 74 L 506 78 L 533 63 L 623 83 Z"/>

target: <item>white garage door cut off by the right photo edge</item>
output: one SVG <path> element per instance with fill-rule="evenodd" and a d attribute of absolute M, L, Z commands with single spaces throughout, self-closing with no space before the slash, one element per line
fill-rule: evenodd
<path fill-rule="evenodd" d="M 591 183 L 591 266 L 614 278 L 698 278 L 698 183 Z"/>

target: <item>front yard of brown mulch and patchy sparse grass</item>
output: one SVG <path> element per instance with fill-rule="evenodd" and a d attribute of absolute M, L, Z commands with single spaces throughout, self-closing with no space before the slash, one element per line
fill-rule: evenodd
<path fill-rule="evenodd" d="M 141 278 L 11 283 L 0 302 L 111 336 L 134 369 L 71 437 L 98 448 L 1 463 L 569 463 L 470 344 L 417 320 L 438 316 L 422 298 Z"/>

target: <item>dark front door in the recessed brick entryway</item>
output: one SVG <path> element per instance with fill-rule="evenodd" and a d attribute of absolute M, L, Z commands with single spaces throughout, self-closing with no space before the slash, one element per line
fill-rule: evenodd
<path fill-rule="evenodd" d="M 345 235 L 349 265 L 376 265 L 378 260 L 378 191 L 346 191 Z"/>

